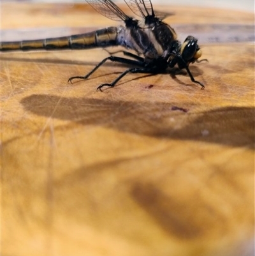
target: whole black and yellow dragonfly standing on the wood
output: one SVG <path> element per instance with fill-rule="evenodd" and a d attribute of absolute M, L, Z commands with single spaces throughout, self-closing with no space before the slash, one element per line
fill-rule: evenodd
<path fill-rule="evenodd" d="M 110 54 L 87 75 L 70 77 L 68 82 L 73 83 L 73 80 L 76 79 L 87 80 L 106 61 L 112 61 L 128 64 L 131 67 L 120 73 L 111 83 L 99 85 L 97 88 L 99 91 L 102 91 L 103 87 L 114 87 L 128 73 L 156 75 L 165 73 L 168 68 L 174 68 L 175 66 L 179 70 L 186 70 L 192 82 L 199 84 L 201 89 L 205 88 L 203 83 L 194 79 L 189 70 L 189 64 L 207 61 L 207 59 L 198 60 L 202 55 L 198 40 L 194 36 L 187 36 L 184 43 L 180 43 L 173 27 L 163 22 L 163 19 L 155 14 L 151 0 L 124 0 L 129 9 L 136 16 L 142 18 L 140 20 L 126 15 L 112 0 L 85 1 L 108 19 L 124 22 L 124 26 L 106 27 L 91 33 L 59 38 L 1 42 L 0 51 L 82 50 L 121 46 L 125 49 L 122 50 L 124 57 Z"/>

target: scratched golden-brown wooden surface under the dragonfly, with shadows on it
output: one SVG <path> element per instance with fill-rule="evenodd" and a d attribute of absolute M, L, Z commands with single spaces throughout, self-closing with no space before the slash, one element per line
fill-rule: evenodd
<path fill-rule="evenodd" d="M 162 10 L 159 8 L 159 10 Z M 170 8 L 170 24 L 253 24 Z M 2 4 L 2 29 L 114 26 L 87 6 Z M 177 31 L 178 32 L 178 31 Z M 254 255 L 254 45 L 203 45 L 180 75 L 127 75 L 107 53 L 1 54 L 2 255 Z"/>

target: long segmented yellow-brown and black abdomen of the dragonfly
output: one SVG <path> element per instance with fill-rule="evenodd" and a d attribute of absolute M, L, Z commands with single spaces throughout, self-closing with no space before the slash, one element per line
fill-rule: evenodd
<path fill-rule="evenodd" d="M 117 27 L 107 27 L 91 33 L 46 38 L 41 40 L 6 41 L 0 43 L 0 51 L 13 50 L 62 50 L 91 49 L 117 45 Z"/>

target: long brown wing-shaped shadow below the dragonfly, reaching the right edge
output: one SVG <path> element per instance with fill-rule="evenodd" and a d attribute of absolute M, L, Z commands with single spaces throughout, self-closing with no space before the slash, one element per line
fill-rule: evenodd
<path fill-rule="evenodd" d="M 254 148 L 253 107 L 221 107 L 191 112 L 189 109 L 198 109 L 198 106 L 177 102 L 64 98 L 45 94 L 27 96 L 21 103 L 25 110 L 38 116 L 83 125 L 104 126 L 158 138 Z"/>

